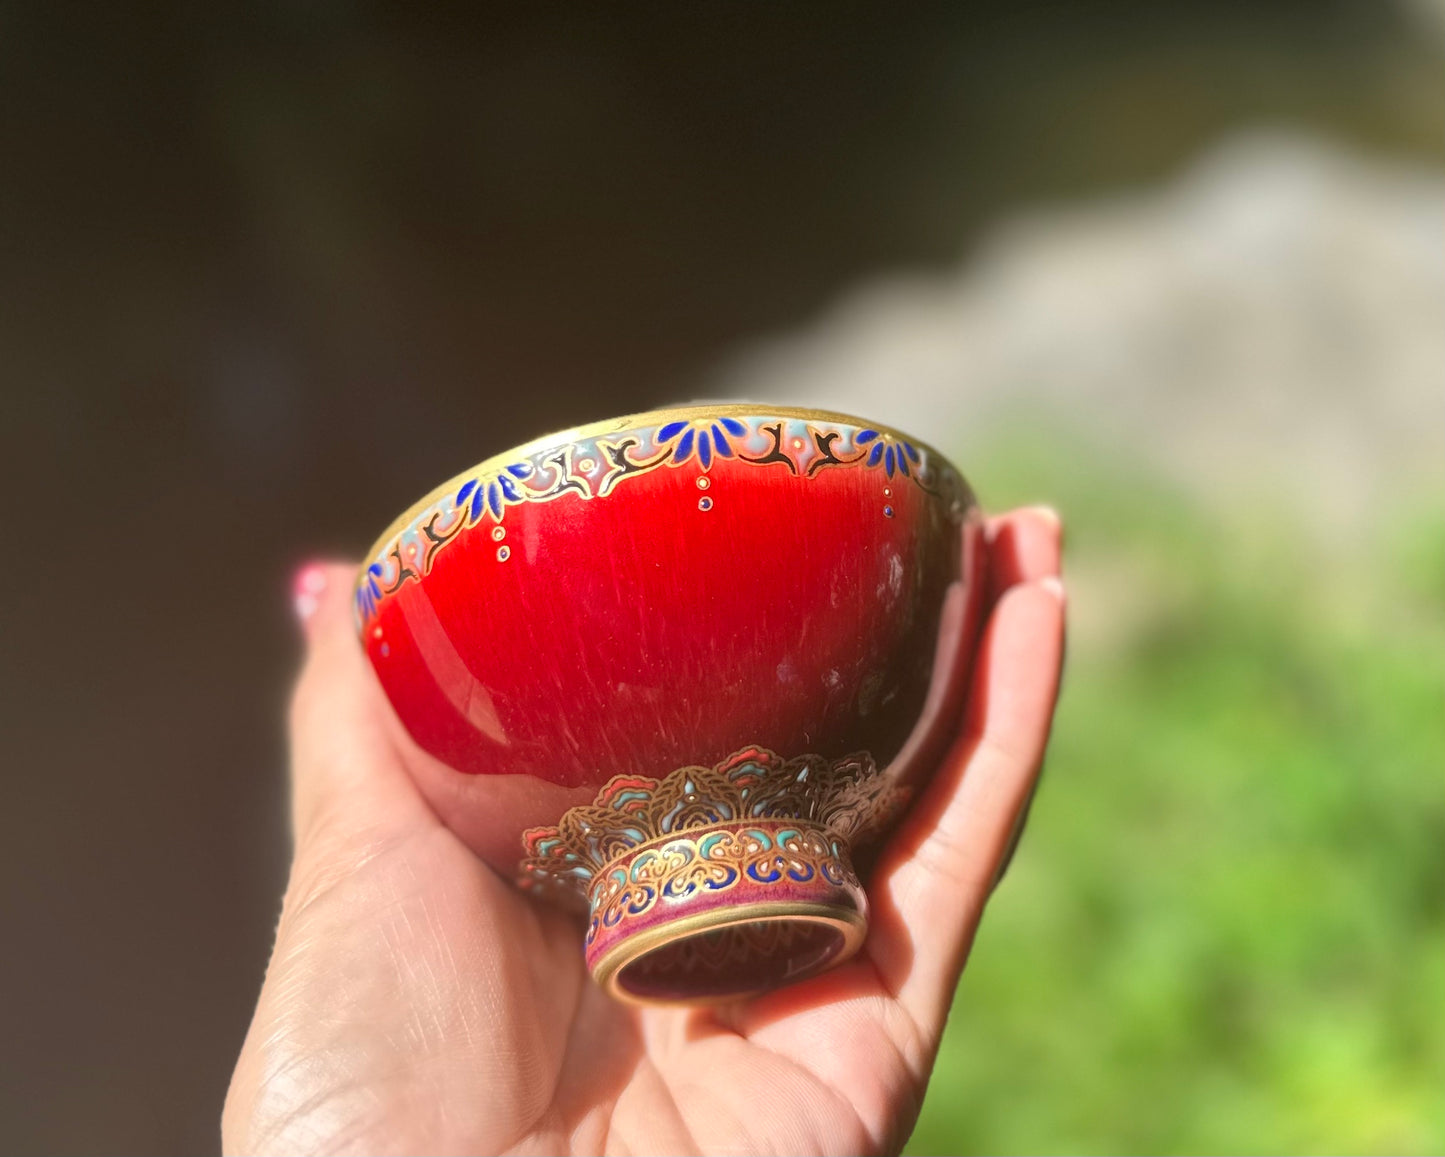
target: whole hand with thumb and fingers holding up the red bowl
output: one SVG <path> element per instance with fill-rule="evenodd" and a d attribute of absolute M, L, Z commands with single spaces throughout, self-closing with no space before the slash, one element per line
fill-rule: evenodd
<path fill-rule="evenodd" d="M 1056 572 L 1056 526 L 1032 517 L 1012 524 L 1000 588 Z M 341 582 L 338 571 L 329 585 Z M 863 953 L 718 1010 L 634 1010 L 592 985 L 577 920 L 514 891 L 420 797 L 406 763 L 425 757 L 324 604 L 311 666 L 325 677 L 308 673 L 293 714 L 296 862 L 227 1098 L 227 1148 L 896 1150 L 1046 734 L 1058 646 L 1039 640 L 1058 627 L 1039 608 L 1058 601 L 1032 599 L 1032 617 L 1016 602 L 1032 654 L 988 657 L 1000 608 L 980 679 L 1039 698 L 1033 740 L 990 738 L 991 705 L 884 851 Z M 1016 773 L 985 781 L 972 768 L 990 758 Z M 970 786 L 981 797 L 959 815 Z"/>

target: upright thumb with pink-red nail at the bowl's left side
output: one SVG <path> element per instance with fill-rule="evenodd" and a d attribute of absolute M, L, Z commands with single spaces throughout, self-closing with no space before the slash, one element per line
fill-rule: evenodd
<path fill-rule="evenodd" d="M 296 852 L 318 839 L 373 842 L 431 818 L 397 754 L 397 724 L 357 638 L 357 568 L 301 569 L 293 607 L 306 654 L 290 701 Z"/>

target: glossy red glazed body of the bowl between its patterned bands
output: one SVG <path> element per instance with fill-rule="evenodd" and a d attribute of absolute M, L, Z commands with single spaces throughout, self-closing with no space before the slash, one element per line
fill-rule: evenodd
<path fill-rule="evenodd" d="M 361 623 L 397 716 L 445 766 L 423 764 L 423 790 L 510 872 L 523 828 L 617 774 L 753 744 L 880 767 L 906 751 L 894 774 L 926 774 L 971 650 L 936 646 L 945 604 L 944 637 L 971 643 L 980 594 L 954 481 L 714 456 L 483 514 Z"/>

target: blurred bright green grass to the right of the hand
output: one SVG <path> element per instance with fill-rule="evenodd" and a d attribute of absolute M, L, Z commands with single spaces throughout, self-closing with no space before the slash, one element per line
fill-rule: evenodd
<path fill-rule="evenodd" d="M 1064 438 L 959 461 L 1064 511 L 1072 634 L 906 1151 L 1445 1148 L 1445 506 L 1322 533 Z"/>

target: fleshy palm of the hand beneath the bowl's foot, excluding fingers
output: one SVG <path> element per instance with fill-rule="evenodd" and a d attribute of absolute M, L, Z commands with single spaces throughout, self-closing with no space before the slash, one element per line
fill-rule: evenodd
<path fill-rule="evenodd" d="M 905 1020 L 868 962 L 733 1021 L 616 1004 L 587 976 L 574 919 L 523 898 L 412 805 L 406 829 L 286 914 L 286 939 L 308 949 L 269 979 L 296 1008 L 275 1010 L 283 1028 L 254 1093 L 275 1131 L 247 1148 L 890 1147 L 892 1106 L 916 1102 L 926 1057 L 903 1062 L 916 1040 L 886 1031 Z M 335 1014 L 314 1015 L 318 1002 Z M 829 1052 L 811 1054 L 822 1040 Z M 829 1085 L 879 1057 L 867 1099 Z M 769 1102 L 788 1112 L 757 1111 Z"/>

